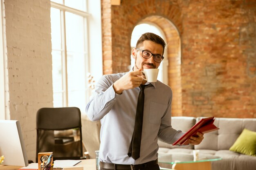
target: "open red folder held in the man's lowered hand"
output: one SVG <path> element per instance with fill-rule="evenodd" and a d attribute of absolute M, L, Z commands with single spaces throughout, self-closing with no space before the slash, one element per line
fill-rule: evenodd
<path fill-rule="evenodd" d="M 196 132 L 201 132 L 201 133 L 208 133 L 214 130 L 218 130 L 213 122 L 214 122 L 214 117 L 206 117 L 202 118 L 200 121 L 198 121 L 197 124 L 195 124 L 189 131 L 187 131 L 182 137 L 180 137 L 177 141 L 173 143 L 173 145 L 187 145 L 189 144 L 189 137 L 191 136 L 197 136 L 195 133 Z"/>

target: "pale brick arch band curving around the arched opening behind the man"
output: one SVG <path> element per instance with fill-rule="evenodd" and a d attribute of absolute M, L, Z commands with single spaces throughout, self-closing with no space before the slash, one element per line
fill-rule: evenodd
<path fill-rule="evenodd" d="M 168 19 L 150 15 L 141 19 L 138 24 L 151 23 L 156 25 L 165 36 L 168 60 L 168 85 L 173 90 L 172 113 L 174 116 L 182 115 L 182 89 L 181 89 L 181 43 L 180 34 L 175 25 Z M 136 25 L 135 25 L 136 26 Z M 130 33 L 131 35 L 131 33 Z"/>

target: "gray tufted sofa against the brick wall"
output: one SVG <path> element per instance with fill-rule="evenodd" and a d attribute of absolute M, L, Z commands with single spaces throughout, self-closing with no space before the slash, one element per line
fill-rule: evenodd
<path fill-rule="evenodd" d="M 172 126 L 186 132 L 202 117 L 172 117 Z M 219 130 L 204 134 L 204 140 L 199 145 L 172 146 L 158 141 L 159 155 L 171 153 L 191 153 L 193 149 L 200 154 L 216 155 L 220 161 L 212 161 L 212 170 L 256 170 L 256 157 L 229 151 L 244 128 L 256 131 L 255 118 L 216 118 L 214 124 Z"/>

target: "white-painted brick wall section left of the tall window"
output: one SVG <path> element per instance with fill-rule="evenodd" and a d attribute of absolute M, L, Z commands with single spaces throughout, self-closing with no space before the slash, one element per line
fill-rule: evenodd
<path fill-rule="evenodd" d="M 28 159 L 36 156 L 36 111 L 52 107 L 50 0 L 5 0 L 10 119 L 20 120 Z"/>

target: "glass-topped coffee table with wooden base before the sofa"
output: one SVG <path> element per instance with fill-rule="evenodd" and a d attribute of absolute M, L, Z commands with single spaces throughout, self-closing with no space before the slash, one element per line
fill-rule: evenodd
<path fill-rule="evenodd" d="M 159 154 L 158 164 L 163 168 L 174 170 L 211 170 L 211 162 L 221 160 L 221 157 L 213 155 L 199 154 L 199 158 L 194 161 L 193 154 Z"/>

